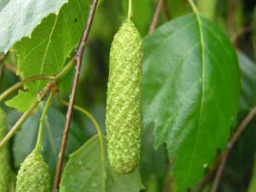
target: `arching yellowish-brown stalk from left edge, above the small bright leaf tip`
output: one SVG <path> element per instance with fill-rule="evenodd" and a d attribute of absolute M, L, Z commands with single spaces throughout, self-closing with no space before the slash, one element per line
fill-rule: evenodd
<path fill-rule="evenodd" d="M 0 101 L 2 101 L 3 98 L 6 98 L 6 96 L 11 94 L 16 89 L 19 89 L 20 87 L 22 87 L 26 83 L 33 82 L 35 80 L 44 80 L 44 79 L 50 79 L 51 80 L 51 79 L 54 79 L 54 77 L 53 76 L 33 76 L 31 78 L 27 78 L 27 79 L 21 80 L 21 81 L 17 82 L 15 85 L 12 85 L 12 87 L 7 89 L 6 91 L 4 91 L 3 94 L 0 95 Z"/>

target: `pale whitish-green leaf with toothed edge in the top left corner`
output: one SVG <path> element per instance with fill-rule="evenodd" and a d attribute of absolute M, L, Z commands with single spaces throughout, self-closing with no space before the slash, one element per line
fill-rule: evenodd
<path fill-rule="evenodd" d="M 0 53 L 7 52 L 22 37 L 30 37 L 44 17 L 58 10 L 67 0 L 10 0 L 0 3 Z"/>

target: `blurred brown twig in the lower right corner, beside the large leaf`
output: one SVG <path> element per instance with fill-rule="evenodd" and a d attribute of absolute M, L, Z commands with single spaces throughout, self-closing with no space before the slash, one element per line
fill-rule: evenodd
<path fill-rule="evenodd" d="M 218 171 L 214 177 L 214 182 L 212 184 L 212 192 L 216 192 L 219 188 L 219 183 L 221 181 L 221 177 L 225 168 L 225 164 L 228 160 L 228 156 L 230 155 L 230 152 L 234 146 L 234 143 L 237 142 L 237 140 L 239 139 L 239 137 L 241 137 L 241 134 L 244 132 L 244 130 L 246 130 L 247 125 L 250 123 L 250 121 L 253 120 L 253 117 L 256 115 L 256 107 L 253 108 L 253 110 L 251 110 L 248 115 L 246 116 L 246 118 L 241 122 L 241 124 L 239 125 L 239 127 L 237 128 L 237 130 L 234 132 L 234 134 L 232 135 L 230 141 L 227 144 L 226 150 L 222 155 L 221 158 L 221 164 L 218 168 Z"/>

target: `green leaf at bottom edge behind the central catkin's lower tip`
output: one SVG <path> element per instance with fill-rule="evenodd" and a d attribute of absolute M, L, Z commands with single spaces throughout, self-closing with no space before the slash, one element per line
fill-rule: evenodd
<path fill-rule="evenodd" d="M 105 139 L 102 148 L 98 136 L 89 139 L 70 155 L 60 183 L 61 192 L 133 192 L 143 188 L 138 171 L 130 175 L 118 175 L 110 168 Z"/>

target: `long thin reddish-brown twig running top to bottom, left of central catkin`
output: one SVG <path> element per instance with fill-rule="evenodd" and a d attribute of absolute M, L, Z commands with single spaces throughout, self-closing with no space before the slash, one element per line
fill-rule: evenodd
<path fill-rule="evenodd" d="M 75 97 L 76 97 L 76 89 L 78 87 L 78 79 L 79 79 L 79 75 L 80 75 L 80 68 L 81 68 L 81 64 L 83 61 L 83 52 L 85 50 L 85 44 L 87 43 L 87 38 L 89 35 L 89 31 L 92 27 L 92 21 L 94 19 L 94 14 L 96 11 L 96 7 L 97 7 L 97 3 L 98 0 L 93 0 L 92 1 L 92 5 L 90 7 L 89 10 L 89 16 L 87 18 L 87 24 L 85 26 L 85 30 L 83 32 L 83 36 L 80 40 L 80 43 L 78 45 L 78 50 L 76 51 L 76 55 L 75 55 L 75 60 L 76 60 L 76 73 L 75 73 L 75 77 L 73 80 L 73 85 L 72 85 L 72 91 L 71 91 L 71 96 L 69 99 L 69 106 L 67 109 L 67 115 L 66 115 L 66 121 L 65 121 L 65 128 L 64 128 L 64 133 L 62 136 L 62 142 L 61 142 L 61 146 L 60 146 L 60 154 L 59 154 L 59 159 L 58 159 L 58 165 L 56 168 L 56 176 L 55 176 L 55 180 L 54 180 L 54 184 L 53 184 L 53 191 L 58 191 L 58 187 L 60 184 L 60 177 L 61 177 L 61 173 L 62 173 L 62 164 L 63 164 L 63 160 L 65 157 L 65 149 L 67 146 L 67 137 L 69 134 L 69 126 L 71 123 L 71 116 L 72 116 L 72 111 L 73 111 L 73 107 L 74 107 L 74 101 L 75 101 Z"/>

